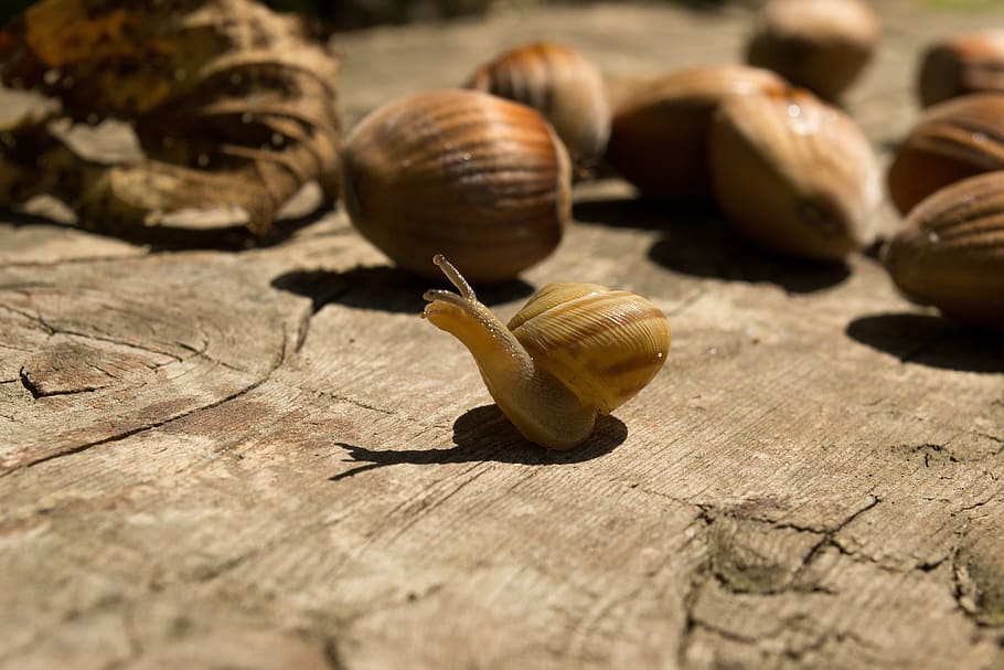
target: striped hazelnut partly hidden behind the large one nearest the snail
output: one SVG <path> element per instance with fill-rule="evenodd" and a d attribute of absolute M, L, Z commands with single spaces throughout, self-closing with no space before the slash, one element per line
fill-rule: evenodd
<path fill-rule="evenodd" d="M 577 166 L 588 169 L 604 155 L 610 136 L 604 78 L 575 49 L 553 42 L 520 46 L 482 65 L 467 86 L 543 114 Z"/>

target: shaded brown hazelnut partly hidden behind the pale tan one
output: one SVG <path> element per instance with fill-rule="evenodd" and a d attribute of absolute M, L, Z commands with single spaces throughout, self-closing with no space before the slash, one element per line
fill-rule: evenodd
<path fill-rule="evenodd" d="M 651 81 L 615 111 L 607 159 L 649 198 L 709 202 L 707 131 L 717 106 L 787 87 L 772 72 L 744 65 L 697 67 Z"/>

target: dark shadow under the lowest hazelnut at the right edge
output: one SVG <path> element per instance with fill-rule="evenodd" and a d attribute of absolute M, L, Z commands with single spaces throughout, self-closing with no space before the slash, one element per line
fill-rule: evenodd
<path fill-rule="evenodd" d="M 901 362 L 960 372 L 1004 372 L 1004 332 L 920 313 L 859 317 L 846 334 Z"/>

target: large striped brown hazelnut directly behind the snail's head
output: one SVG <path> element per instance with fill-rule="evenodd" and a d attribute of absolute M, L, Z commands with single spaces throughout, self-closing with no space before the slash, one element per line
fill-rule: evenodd
<path fill-rule="evenodd" d="M 474 283 L 503 281 L 551 254 L 570 217 L 570 164 L 537 111 L 445 89 L 370 114 L 342 149 L 353 225 L 398 266 L 435 276 L 442 251 Z"/>

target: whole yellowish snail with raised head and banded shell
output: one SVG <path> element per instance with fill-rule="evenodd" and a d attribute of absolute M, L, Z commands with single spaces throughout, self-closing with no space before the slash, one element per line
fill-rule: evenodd
<path fill-rule="evenodd" d="M 460 340 L 502 413 L 528 440 L 569 449 L 641 391 L 665 362 L 670 325 L 634 294 L 595 284 L 548 284 L 509 326 L 441 255 L 460 291 L 427 290 L 423 318 Z"/>

